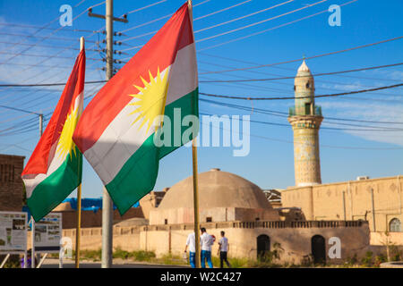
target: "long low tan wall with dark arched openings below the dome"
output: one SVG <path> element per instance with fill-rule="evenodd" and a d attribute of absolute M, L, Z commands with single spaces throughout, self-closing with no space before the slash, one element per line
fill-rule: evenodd
<path fill-rule="evenodd" d="M 330 248 L 331 237 L 341 240 L 341 259 L 331 262 L 339 263 L 347 257 L 363 257 L 370 245 L 369 228 L 366 222 L 227 222 L 201 223 L 210 234 L 218 240 L 220 231 L 226 231 L 229 241 L 229 257 L 257 257 L 257 237 L 265 234 L 270 237 L 270 246 L 279 242 L 284 248 L 282 261 L 299 263 L 303 257 L 311 254 L 311 240 L 314 235 L 322 235 L 326 241 L 326 252 Z M 133 227 L 114 227 L 114 248 L 127 251 L 154 251 L 158 257 L 167 253 L 181 255 L 193 224 L 148 225 Z M 63 235 L 75 243 L 75 230 L 64 230 Z M 102 245 L 100 228 L 81 231 L 81 249 L 99 249 Z M 74 246 L 75 248 L 75 246 Z M 218 243 L 212 248 L 217 255 Z M 329 257 L 328 257 L 329 258 Z"/>

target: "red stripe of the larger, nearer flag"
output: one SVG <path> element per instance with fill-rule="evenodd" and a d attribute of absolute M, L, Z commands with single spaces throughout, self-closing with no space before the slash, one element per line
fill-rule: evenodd
<path fill-rule="evenodd" d="M 82 153 L 98 141 L 107 126 L 119 114 L 143 86 L 141 77 L 150 80 L 149 71 L 155 75 L 174 63 L 176 53 L 193 44 L 193 30 L 184 4 L 172 18 L 99 90 L 83 112 L 73 134 L 73 141 Z"/>

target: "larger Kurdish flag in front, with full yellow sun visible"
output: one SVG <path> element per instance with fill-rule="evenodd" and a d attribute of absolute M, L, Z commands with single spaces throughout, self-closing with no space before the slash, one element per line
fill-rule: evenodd
<path fill-rule="evenodd" d="M 154 188 L 159 160 L 196 136 L 198 123 L 181 125 L 163 136 L 174 139 L 193 129 L 187 139 L 154 144 L 161 123 L 164 128 L 167 124 L 156 120 L 159 115 L 165 114 L 172 125 L 186 115 L 199 115 L 197 84 L 192 21 L 184 4 L 86 107 L 73 140 L 120 214 Z"/>

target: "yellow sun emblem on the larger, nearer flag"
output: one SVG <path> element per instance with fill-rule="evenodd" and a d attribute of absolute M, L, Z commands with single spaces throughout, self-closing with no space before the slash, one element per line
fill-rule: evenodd
<path fill-rule="evenodd" d="M 139 130 L 141 130 L 141 128 L 147 124 L 147 132 L 150 130 L 152 124 L 160 124 L 160 122 L 157 124 L 154 121 L 157 116 L 164 114 L 165 104 L 167 101 L 168 70 L 165 72 L 163 78 L 161 78 L 159 68 L 155 78 L 152 76 L 150 71 L 149 76 L 150 82 L 147 82 L 147 80 L 144 80 L 142 77 L 140 77 L 144 87 L 141 88 L 134 85 L 134 87 L 139 90 L 139 93 L 136 95 L 130 95 L 130 97 L 139 99 L 138 101 L 130 104 L 137 106 L 137 108 L 131 114 L 140 113 L 133 124 L 142 119 Z"/>

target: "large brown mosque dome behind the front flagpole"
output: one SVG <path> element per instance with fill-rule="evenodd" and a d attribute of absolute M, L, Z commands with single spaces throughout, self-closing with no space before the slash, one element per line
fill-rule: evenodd
<path fill-rule="evenodd" d="M 261 188 L 231 172 L 211 169 L 201 172 L 199 181 L 199 206 L 241 207 L 272 209 Z M 159 209 L 193 208 L 193 176 L 177 182 L 162 199 Z"/>

